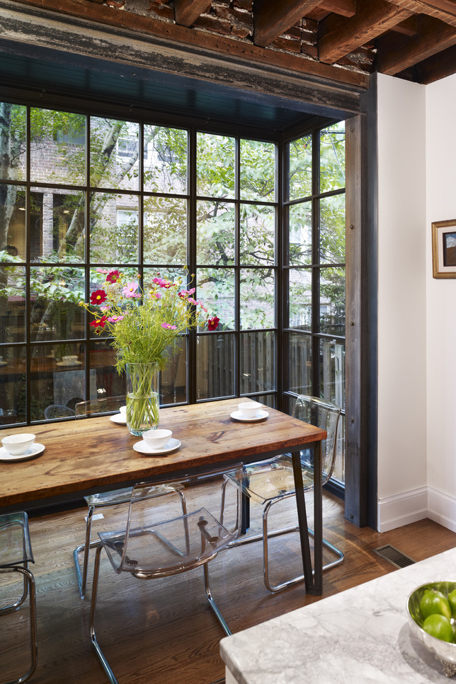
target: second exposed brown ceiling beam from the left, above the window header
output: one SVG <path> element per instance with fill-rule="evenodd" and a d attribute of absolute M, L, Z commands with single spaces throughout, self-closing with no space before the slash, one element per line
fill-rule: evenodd
<path fill-rule="evenodd" d="M 320 3 L 321 0 L 254 0 L 254 44 L 265 48 Z"/>

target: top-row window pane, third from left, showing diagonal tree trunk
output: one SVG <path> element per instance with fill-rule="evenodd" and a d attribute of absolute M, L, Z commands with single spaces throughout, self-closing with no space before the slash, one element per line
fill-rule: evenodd
<path fill-rule="evenodd" d="M 140 126 L 131 121 L 91 117 L 91 185 L 137 190 Z"/>

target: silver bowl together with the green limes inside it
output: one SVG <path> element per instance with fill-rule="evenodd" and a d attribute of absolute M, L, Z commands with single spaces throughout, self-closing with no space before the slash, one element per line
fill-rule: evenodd
<path fill-rule="evenodd" d="M 428 582 L 407 600 L 413 634 L 444 666 L 447 677 L 456 674 L 456 582 Z"/>

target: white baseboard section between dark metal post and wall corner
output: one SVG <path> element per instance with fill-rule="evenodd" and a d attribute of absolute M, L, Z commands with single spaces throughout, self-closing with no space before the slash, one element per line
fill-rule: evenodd
<path fill-rule="evenodd" d="M 388 532 L 425 517 L 430 517 L 427 487 L 384 497 L 377 504 L 377 531 Z"/>

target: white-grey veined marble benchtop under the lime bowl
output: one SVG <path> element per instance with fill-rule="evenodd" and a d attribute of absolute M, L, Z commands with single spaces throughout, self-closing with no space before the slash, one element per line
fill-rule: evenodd
<path fill-rule="evenodd" d="M 410 592 L 439 580 L 456 581 L 456 549 L 228 636 L 227 684 L 456 682 L 408 625 Z"/>

